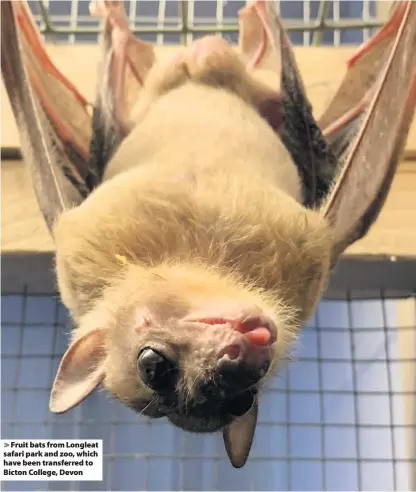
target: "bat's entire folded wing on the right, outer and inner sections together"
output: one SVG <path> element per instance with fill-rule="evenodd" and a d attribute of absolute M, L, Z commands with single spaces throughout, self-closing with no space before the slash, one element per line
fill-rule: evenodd
<path fill-rule="evenodd" d="M 240 14 L 240 43 L 248 64 L 278 74 L 278 129 L 304 185 L 304 205 L 319 209 L 334 229 L 334 262 L 362 238 L 389 192 L 416 104 L 416 3 L 397 2 L 386 25 L 364 43 L 317 122 L 290 41 L 273 2 Z M 267 102 L 266 102 L 267 106 Z M 276 119 L 276 116 L 274 116 Z M 351 204 L 354 204 L 352 207 Z"/>

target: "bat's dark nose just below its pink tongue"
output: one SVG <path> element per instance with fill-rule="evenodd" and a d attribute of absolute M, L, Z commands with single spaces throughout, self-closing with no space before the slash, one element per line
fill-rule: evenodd
<path fill-rule="evenodd" d="M 270 351 L 233 343 L 222 350 L 216 364 L 218 385 L 226 391 L 239 392 L 258 383 L 270 367 Z"/>

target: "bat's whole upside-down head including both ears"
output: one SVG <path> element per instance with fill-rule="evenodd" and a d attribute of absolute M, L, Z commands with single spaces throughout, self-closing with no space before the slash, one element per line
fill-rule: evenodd
<path fill-rule="evenodd" d="M 200 266 L 131 265 L 120 282 L 81 318 L 51 410 L 69 410 L 102 384 L 151 418 L 191 432 L 222 429 L 232 463 L 242 466 L 257 394 L 283 356 L 294 312 Z M 233 433 L 245 444 L 236 447 Z"/>

